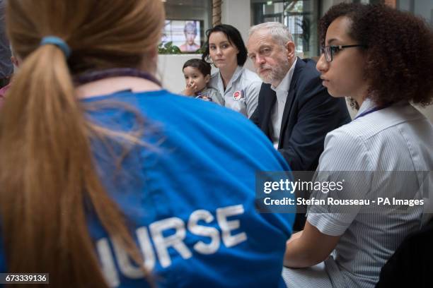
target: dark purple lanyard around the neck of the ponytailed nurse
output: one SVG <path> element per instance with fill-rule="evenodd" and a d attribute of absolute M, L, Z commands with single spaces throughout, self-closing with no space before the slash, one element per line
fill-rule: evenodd
<path fill-rule="evenodd" d="M 101 71 L 92 71 L 89 73 L 85 73 L 81 76 L 76 76 L 74 78 L 74 82 L 83 85 L 93 81 L 102 80 L 110 77 L 118 77 L 118 76 L 132 76 L 132 77 L 143 78 L 155 83 L 156 85 L 161 86 L 161 83 L 158 80 L 156 80 L 156 78 L 152 76 L 150 73 L 139 71 L 138 69 L 135 68 L 111 68 L 111 69 L 101 70 Z"/>

